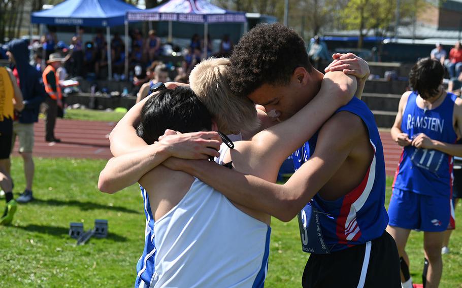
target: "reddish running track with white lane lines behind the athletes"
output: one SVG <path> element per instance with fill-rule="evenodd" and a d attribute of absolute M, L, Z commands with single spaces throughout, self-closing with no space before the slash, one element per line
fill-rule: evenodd
<path fill-rule="evenodd" d="M 34 156 L 109 159 L 112 155 L 109 150 L 108 135 L 115 124 L 115 122 L 58 119 L 55 136 L 62 142 L 48 143 L 45 141 L 45 122 L 40 120 L 34 126 Z M 400 160 L 402 149 L 394 143 L 389 132 L 381 131 L 380 137 L 385 154 L 386 174 L 392 176 Z M 13 155 L 18 155 L 17 151 L 18 140 Z"/>

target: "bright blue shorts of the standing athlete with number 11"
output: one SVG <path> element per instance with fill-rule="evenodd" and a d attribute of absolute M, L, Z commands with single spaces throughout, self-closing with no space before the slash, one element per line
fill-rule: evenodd
<path fill-rule="evenodd" d="M 388 206 L 388 224 L 426 232 L 442 232 L 448 227 L 453 228 L 455 223 L 451 217 L 451 200 L 449 197 L 393 189 Z"/>

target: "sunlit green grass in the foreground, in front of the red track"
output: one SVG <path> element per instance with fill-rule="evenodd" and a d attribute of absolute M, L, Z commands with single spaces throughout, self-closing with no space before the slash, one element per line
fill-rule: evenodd
<path fill-rule="evenodd" d="M 106 163 L 103 160 L 35 160 L 37 199 L 19 206 L 12 226 L 0 227 L 0 287 L 133 286 L 145 225 L 137 186 L 115 195 L 98 192 L 98 174 Z M 22 160 L 14 157 L 12 162 L 15 191 L 20 192 L 24 189 Z M 462 211 L 460 204 L 457 209 Z M 109 237 L 75 246 L 76 241 L 68 236 L 69 223 L 83 222 L 87 230 L 93 228 L 95 219 L 109 221 Z M 462 223 L 460 215 L 457 220 Z M 296 219 L 289 223 L 273 220 L 267 287 L 300 287 L 308 255 L 301 251 L 298 234 Z M 462 233 L 456 230 L 451 254 L 443 256 L 440 287 L 462 287 L 460 243 Z M 419 282 L 422 233 L 411 233 L 407 251 L 412 276 Z"/>

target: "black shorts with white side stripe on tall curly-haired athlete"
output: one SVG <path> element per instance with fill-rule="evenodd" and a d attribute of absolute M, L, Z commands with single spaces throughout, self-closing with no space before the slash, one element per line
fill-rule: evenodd
<path fill-rule="evenodd" d="M 400 288 L 400 257 L 396 243 L 385 231 L 367 244 L 328 255 L 311 254 L 303 272 L 302 286 Z"/>

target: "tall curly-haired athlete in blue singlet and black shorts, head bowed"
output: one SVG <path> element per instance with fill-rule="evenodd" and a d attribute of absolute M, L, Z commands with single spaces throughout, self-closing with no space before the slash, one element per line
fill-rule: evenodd
<path fill-rule="evenodd" d="M 265 105 L 274 118 L 288 119 L 308 102 L 317 101 L 314 96 L 323 75 L 311 67 L 299 35 L 280 24 L 260 25 L 249 31 L 235 47 L 231 61 L 232 89 Z M 354 74 L 349 68 L 357 61 L 351 54 L 343 55 L 329 70 Z M 327 107 L 291 129 L 302 131 Z M 129 129 L 133 124 L 123 125 Z M 111 143 L 128 141 L 129 130 L 121 128 L 113 131 Z M 273 137 L 279 141 L 261 143 L 268 151 L 259 157 L 261 167 L 270 166 L 266 161 L 292 140 L 284 134 Z M 230 200 L 284 221 L 303 208 L 302 244 L 312 253 L 304 273 L 305 287 L 399 287 L 398 251 L 385 232 L 388 217 L 382 146 L 367 106 L 358 99 L 351 100 L 294 156 L 299 166 L 307 163 L 285 185 L 207 161 L 170 158 L 164 164 L 192 173 Z"/>

